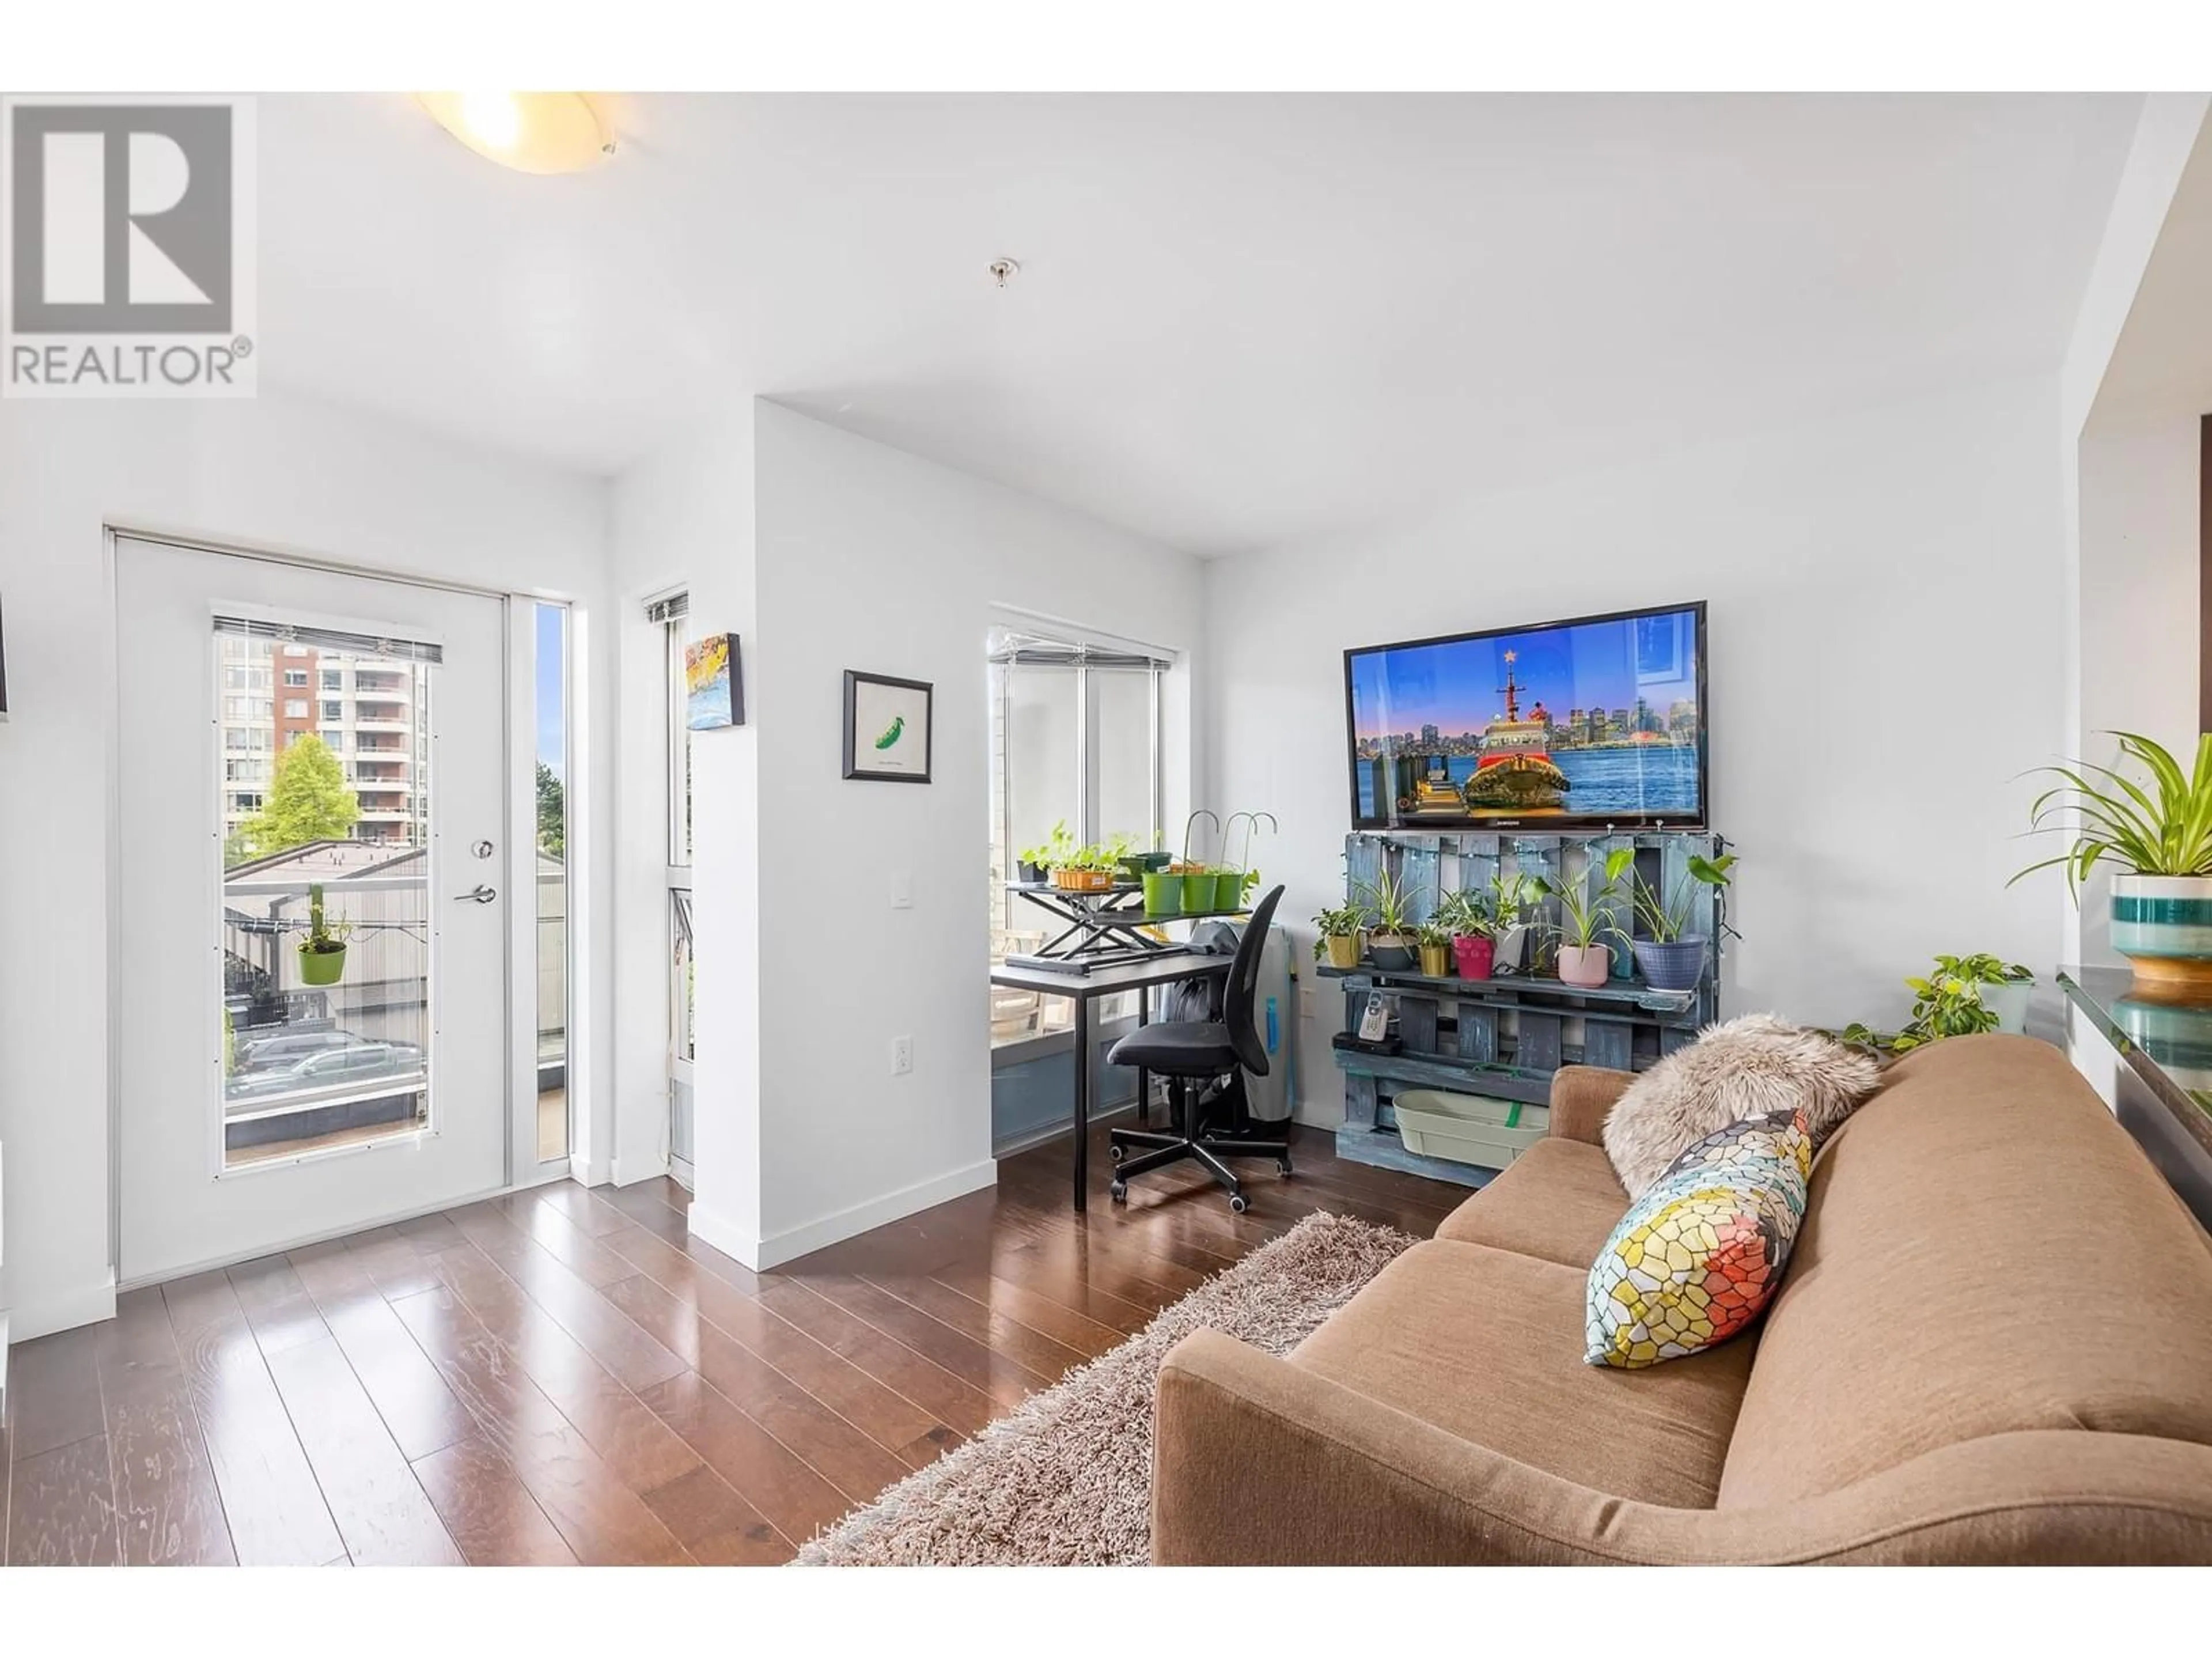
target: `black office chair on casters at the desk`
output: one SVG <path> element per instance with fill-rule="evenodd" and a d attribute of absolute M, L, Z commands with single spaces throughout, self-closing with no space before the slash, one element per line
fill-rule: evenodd
<path fill-rule="evenodd" d="M 1290 1175 L 1290 1141 L 1230 1141 L 1199 1133 L 1194 1117 L 1192 1084 L 1243 1066 L 1267 1075 L 1267 1044 L 1259 1037 L 1259 1022 L 1252 1004 L 1259 998 L 1259 953 L 1267 947 L 1267 922 L 1283 898 L 1276 887 L 1252 911 L 1243 938 L 1237 940 L 1237 958 L 1230 962 L 1228 982 L 1221 987 L 1221 1020 L 1164 1020 L 1152 1026 L 1137 1026 L 1106 1055 L 1115 1066 L 1141 1066 L 1168 1079 L 1175 1099 L 1175 1133 L 1161 1135 L 1144 1128 L 1117 1128 L 1106 1137 L 1113 1152 L 1113 1186 L 1106 1190 L 1115 1203 L 1128 1199 L 1128 1177 L 1181 1164 L 1186 1157 L 1203 1164 L 1214 1181 L 1230 1190 L 1230 1208 L 1243 1214 L 1250 1201 L 1237 1181 L 1237 1170 L 1223 1157 L 1272 1157 L 1274 1166 Z M 1150 1148 L 1141 1157 L 1126 1157 L 1126 1148 Z"/>

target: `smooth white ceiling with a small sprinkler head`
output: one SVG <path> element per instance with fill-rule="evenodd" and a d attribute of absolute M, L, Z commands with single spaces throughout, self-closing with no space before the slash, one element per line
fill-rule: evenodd
<path fill-rule="evenodd" d="M 261 374 L 602 473 L 768 394 L 1225 553 L 2055 365 L 2137 102 L 639 95 L 542 179 L 265 97 Z"/>

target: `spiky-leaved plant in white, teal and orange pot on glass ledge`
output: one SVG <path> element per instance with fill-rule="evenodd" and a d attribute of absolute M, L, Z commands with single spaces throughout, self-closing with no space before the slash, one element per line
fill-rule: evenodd
<path fill-rule="evenodd" d="M 2037 768 L 2059 783 L 2035 796 L 2028 834 L 2068 841 L 2013 880 L 2059 865 L 2079 902 L 2088 874 L 2112 865 L 2112 949 L 2135 964 L 2137 982 L 2168 993 L 2212 991 L 2212 956 L 2201 945 L 2212 927 L 2212 732 L 2197 739 L 2190 772 L 2148 737 L 2112 737 L 2121 757 L 2150 774 L 2150 787 L 2088 761 Z"/>

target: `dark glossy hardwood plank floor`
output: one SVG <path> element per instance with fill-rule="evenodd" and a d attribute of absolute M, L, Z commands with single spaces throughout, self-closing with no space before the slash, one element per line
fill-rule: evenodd
<path fill-rule="evenodd" d="M 7 1564 L 770 1564 L 1310 1210 L 1427 1237 L 1464 1190 L 1338 1161 L 1068 1210 L 995 1192 L 754 1274 L 672 1181 L 573 1183 L 131 1292 L 22 1343 Z"/>

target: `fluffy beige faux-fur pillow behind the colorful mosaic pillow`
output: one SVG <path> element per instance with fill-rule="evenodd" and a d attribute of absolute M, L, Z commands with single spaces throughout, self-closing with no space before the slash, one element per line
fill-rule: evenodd
<path fill-rule="evenodd" d="M 1705 1026 L 1628 1086 L 1606 1117 L 1606 1157 L 1639 1199 L 1686 1146 L 1745 1117 L 1803 1110 L 1818 1150 L 1880 1082 L 1871 1055 L 1747 1013 Z"/>

